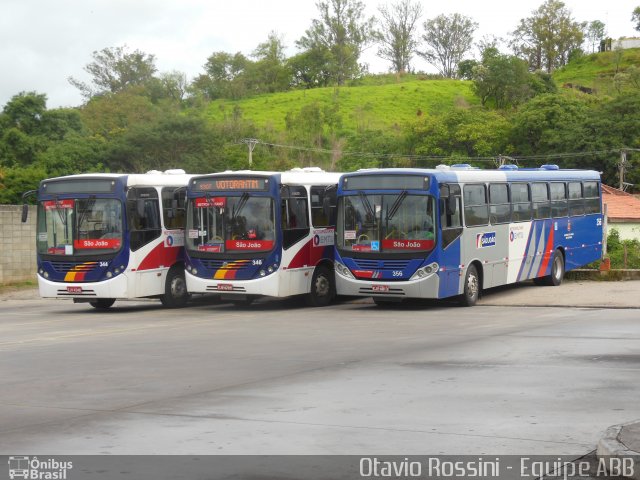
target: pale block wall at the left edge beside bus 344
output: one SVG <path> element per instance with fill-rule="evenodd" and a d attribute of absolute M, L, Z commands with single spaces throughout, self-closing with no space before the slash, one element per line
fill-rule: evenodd
<path fill-rule="evenodd" d="M 36 279 L 36 207 L 21 217 L 21 205 L 0 205 L 0 285 Z"/>

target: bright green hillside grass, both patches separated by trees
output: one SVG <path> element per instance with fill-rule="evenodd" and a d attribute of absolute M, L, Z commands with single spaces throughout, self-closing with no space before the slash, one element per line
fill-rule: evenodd
<path fill-rule="evenodd" d="M 598 94 L 613 94 L 613 76 L 630 65 L 640 65 L 640 49 L 585 55 L 553 73 L 560 91 L 571 92 L 562 86 L 572 84 L 595 89 Z M 242 117 L 259 127 L 285 129 L 288 112 L 297 113 L 309 104 L 320 108 L 337 104 L 345 130 L 390 129 L 425 114 L 437 115 L 456 106 L 478 105 L 479 99 L 471 91 L 471 82 L 430 79 L 420 75 L 368 76 L 359 85 L 340 88 L 316 88 L 258 95 L 233 101 L 212 102 L 207 117 L 219 122 L 240 109 Z"/>

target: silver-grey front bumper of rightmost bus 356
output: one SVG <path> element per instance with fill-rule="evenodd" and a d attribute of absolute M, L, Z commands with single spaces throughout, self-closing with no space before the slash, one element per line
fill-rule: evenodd
<path fill-rule="evenodd" d="M 437 274 L 403 282 L 373 282 L 346 278 L 336 273 L 336 293 L 346 296 L 381 297 L 385 299 L 438 298 L 440 277 Z"/>

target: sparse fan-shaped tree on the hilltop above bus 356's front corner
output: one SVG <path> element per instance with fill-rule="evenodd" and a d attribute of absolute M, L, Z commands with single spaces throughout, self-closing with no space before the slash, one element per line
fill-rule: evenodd
<path fill-rule="evenodd" d="M 454 13 L 438 15 L 423 24 L 422 40 L 427 49 L 418 52 L 427 62 L 436 67 L 440 74 L 455 78 L 458 64 L 471 49 L 473 33 L 478 24 L 469 17 Z"/>

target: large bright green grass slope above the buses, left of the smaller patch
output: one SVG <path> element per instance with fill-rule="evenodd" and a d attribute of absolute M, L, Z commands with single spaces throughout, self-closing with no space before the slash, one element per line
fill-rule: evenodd
<path fill-rule="evenodd" d="M 369 80 L 371 83 L 371 80 Z M 471 82 L 461 80 L 422 80 L 408 76 L 394 83 L 350 87 L 327 87 L 259 95 L 238 101 L 216 100 L 208 109 L 213 121 L 233 114 L 236 106 L 242 117 L 259 126 L 285 128 L 287 112 L 317 103 L 321 108 L 338 104 L 343 127 L 385 129 L 424 114 L 438 114 L 456 105 L 479 104 L 471 92 Z"/>

